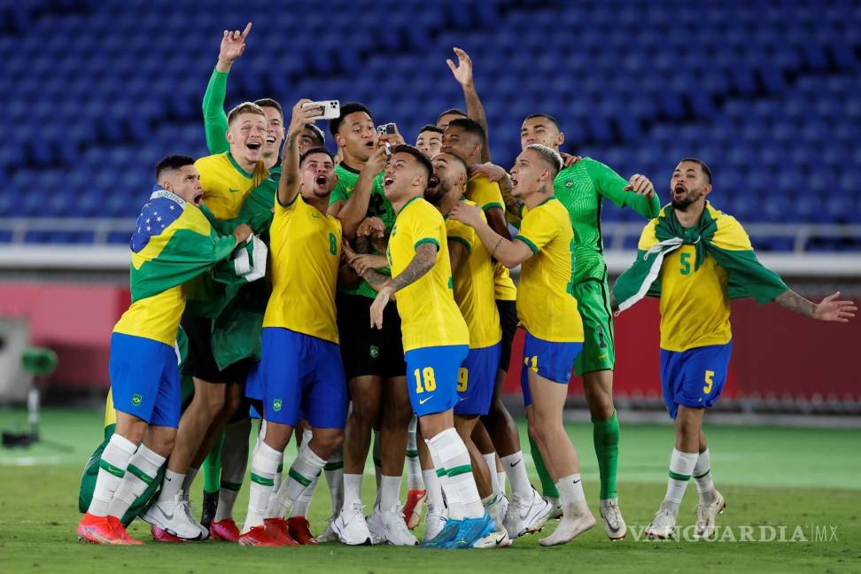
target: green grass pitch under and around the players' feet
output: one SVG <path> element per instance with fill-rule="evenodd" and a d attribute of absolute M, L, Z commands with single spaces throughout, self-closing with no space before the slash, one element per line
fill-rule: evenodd
<path fill-rule="evenodd" d="M 0 411 L 0 428 L 24 419 L 22 411 Z M 629 528 L 641 531 L 663 499 L 673 433 L 669 422 L 622 424 L 619 500 Z M 144 547 L 82 545 L 74 534 L 80 517 L 78 480 L 101 438 L 101 426 L 95 411 L 52 409 L 43 414 L 42 424 L 49 442 L 27 450 L 0 449 L 0 572 L 861 571 L 858 431 L 707 426 L 716 485 L 728 505 L 718 518 L 723 529 L 719 541 L 655 542 L 636 539 L 629 531 L 628 539 L 611 543 L 599 521 L 562 547 L 539 547 L 538 537 L 532 536 L 499 550 L 431 551 L 337 544 L 243 548 L 213 541 L 164 545 L 151 542 L 141 521 L 131 533 L 148 542 Z M 597 516 L 591 426 L 571 424 L 569 432 Z M 372 472 L 366 472 L 363 493 L 368 504 L 373 500 Z M 198 477 L 192 494 L 198 507 L 201 485 Z M 237 501 L 240 524 L 246 488 Z M 690 485 L 679 526 L 694 523 L 695 504 L 696 489 Z M 330 509 L 323 481 L 311 509 L 312 528 L 319 531 Z M 548 524 L 545 534 L 553 527 Z M 778 539 L 742 541 L 747 527 L 755 540 L 763 532 Z"/>

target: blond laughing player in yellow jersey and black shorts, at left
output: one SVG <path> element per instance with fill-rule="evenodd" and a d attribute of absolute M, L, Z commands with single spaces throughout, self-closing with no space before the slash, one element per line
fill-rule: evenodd
<path fill-rule="evenodd" d="M 236 218 L 244 198 L 267 175 L 262 161 L 266 112 L 259 105 L 244 102 L 229 112 L 228 124 L 230 150 L 195 162 L 203 185 L 204 204 L 221 221 Z M 187 312 L 182 317 L 182 328 L 189 337 L 183 372 L 194 377 L 194 397 L 182 414 L 159 499 L 143 514 L 143 519 L 160 530 L 176 532 L 180 538 L 196 538 L 191 535 L 195 528 L 206 538 L 209 529 L 180 508 L 189 508 L 188 493 L 199 465 L 239 407 L 248 360 L 219 367 L 213 356 L 210 317 Z"/>

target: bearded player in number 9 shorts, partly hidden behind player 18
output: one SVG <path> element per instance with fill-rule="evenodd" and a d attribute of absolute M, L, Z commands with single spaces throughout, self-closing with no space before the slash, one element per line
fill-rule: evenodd
<path fill-rule="evenodd" d="M 502 534 L 497 546 L 509 546 L 511 542 L 503 526 L 500 497 L 493 491 L 491 480 L 491 472 L 496 470 L 495 458 L 493 467 L 489 466 L 471 438 L 478 416 L 486 415 L 490 408 L 502 352 L 500 314 L 493 298 L 493 260 L 473 229 L 448 217 L 451 209 L 466 195 L 469 178 L 466 163 L 453 154 L 439 153 L 432 164 L 433 177 L 424 197 L 437 206 L 446 219 L 448 252 L 454 274 L 454 300 L 469 329 L 469 353 L 458 372 L 459 399 L 454 406 L 454 427 L 469 449 L 482 502 L 493 517 L 497 532 Z M 475 205 L 466 201 L 471 206 Z M 519 465 L 518 470 L 518 477 L 522 479 L 518 485 L 525 485 L 531 493 L 523 465 Z M 436 503 L 429 506 L 429 516 L 438 511 L 436 507 Z"/>

